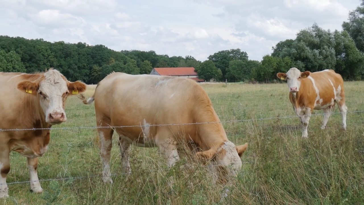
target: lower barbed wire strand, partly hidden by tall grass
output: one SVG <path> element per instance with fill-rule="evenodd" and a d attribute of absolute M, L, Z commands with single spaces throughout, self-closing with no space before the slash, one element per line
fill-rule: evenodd
<path fill-rule="evenodd" d="M 248 162 L 241 162 L 242 164 L 247 164 L 247 163 L 252 163 L 253 161 L 248 161 Z M 234 165 L 237 163 L 231 163 L 230 165 Z M 183 166 L 188 166 L 190 164 L 185 164 L 182 165 Z M 221 166 L 221 165 L 207 165 L 207 166 L 201 166 L 201 167 L 214 167 L 214 166 Z M 198 166 L 200 167 L 200 166 Z M 197 168 L 198 168 L 197 167 Z M 139 169 L 139 170 L 144 170 L 144 169 L 149 169 L 149 168 L 143 168 L 143 169 Z M 195 168 L 194 168 L 195 169 Z M 161 171 L 161 170 L 168 170 L 168 169 L 158 169 L 157 171 Z M 153 171 L 156 171 L 155 169 Z M 126 172 L 126 173 L 118 173 L 118 174 L 110 174 L 111 176 L 119 176 L 119 175 L 125 175 L 125 174 L 132 174 L 131 172 Z M 0 185 L 11 185 L 11 184 L 17 184 L 17 183 L 31 183 L 31 182 L 41 182 L 41 181 L 59 181 L 59 180 L 68 180 L 68 179 L 82 179 L 82 178 L 93 178 L 93 177 L 103 177 L 103 175 L 91 175 L 91 176 L 79 176 L 79 177 L 66 177 L 66 178 L 50 178 L 50 179 L 39 179 L 39 180 L 33 180 L 33 181 L 17 181 L 17 182 L 9 182 L 9 183 L 0 183 Z"/>

